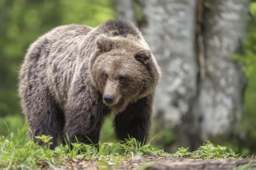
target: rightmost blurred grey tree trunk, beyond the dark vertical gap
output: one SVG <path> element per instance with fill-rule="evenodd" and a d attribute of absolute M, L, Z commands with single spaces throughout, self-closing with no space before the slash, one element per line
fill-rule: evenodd
<path fill-rule="evenodd" d="M 247 34 L 249 0 L 208 1 L 203 42 L 205 77 L 199 82 L 194 105 L 194 128 L 202 139 L 227 135 L 243 114 L 245 76 L 233 60 Z"/>

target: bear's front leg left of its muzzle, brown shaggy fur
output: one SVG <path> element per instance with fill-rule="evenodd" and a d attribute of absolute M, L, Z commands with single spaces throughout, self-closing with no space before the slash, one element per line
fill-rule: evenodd
<path fill-rule="evenodd" d="M 84 87 L 77 92 L 69 98 L 65 106 L 63 138 L 71 143 L 78 140 L 97 144 L 106 106 L 102 104 L 101 95 L 97 91 Z"/>

